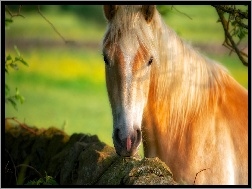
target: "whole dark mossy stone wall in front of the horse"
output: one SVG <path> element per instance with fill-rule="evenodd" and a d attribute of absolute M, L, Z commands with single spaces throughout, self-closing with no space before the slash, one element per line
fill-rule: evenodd
<path fill-rule="evenodd" d="M 177 184 L 158 158 L 120 157 L 96 135 L 69 137 L 55 128 L 32 129 L 34 132 L 6 125 L 4 183 L 8 186 L 16 183 L 22 172 L 21 183 L 46 172 L 60 185 Z M 28 166 L 18 166 L 21 164 Z"/>

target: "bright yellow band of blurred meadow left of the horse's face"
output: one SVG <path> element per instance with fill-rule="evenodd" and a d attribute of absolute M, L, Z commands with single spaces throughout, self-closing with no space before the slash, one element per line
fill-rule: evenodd
<path fill-rule="evenodd" d="M 12 51 L 7 51 L 13 53 Z M 57 50 L 41 49 L 25 52 L 25 60 L 29 67 L 21 66 L 24 73 L 36 73 L 50 76 L 51 79 L 86 78 L 92 82 L 104 81 L 104 64 L 102 55 L 87 49 L 67 48 Z"/>

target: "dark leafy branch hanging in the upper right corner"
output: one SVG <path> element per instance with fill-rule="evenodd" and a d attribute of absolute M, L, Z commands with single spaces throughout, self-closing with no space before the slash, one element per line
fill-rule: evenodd
<path fill-rule="evenodd" d="M 248 9 L 241 10 L 235 5 L 212 5 L 219 16 L 225 34 L 223 45 L 235 52 L 242 64 L 248 66 L 248 54 L 239 45 L 248 34 Z M 228 15 L 226 16 L 227 13 Z M 226 16 L 226 17 L 225 17 Z"/>

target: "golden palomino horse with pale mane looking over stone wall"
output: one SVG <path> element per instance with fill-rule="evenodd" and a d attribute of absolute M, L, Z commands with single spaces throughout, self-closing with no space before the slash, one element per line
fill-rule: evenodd
<path fill-rule="evenodd" d="M 113 142 L 159 157 L 174 179 L 248 184 L 248 92 L 183 42 L 155 6 L 104 6 L 106 84 Z M 203 170 L 203 171 L 202 171 Z"/>

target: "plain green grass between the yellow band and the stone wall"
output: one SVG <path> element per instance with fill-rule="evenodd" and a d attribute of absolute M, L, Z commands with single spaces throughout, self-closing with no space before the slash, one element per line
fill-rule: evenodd
<path fill-rule="evenodd" d="M 6 106 L 6 117 L 17 117 L 30 126 L 63 129 L 73 133 L 97 134 L 112 145 L 112 119 L 105 82 L 86 78 L 53 79 L 37 73 L 12 73 L 6 77 L 17 86 L 25 103 L 16 111 Z M 12 88 L 14 90 L 14 88 Z"/>

